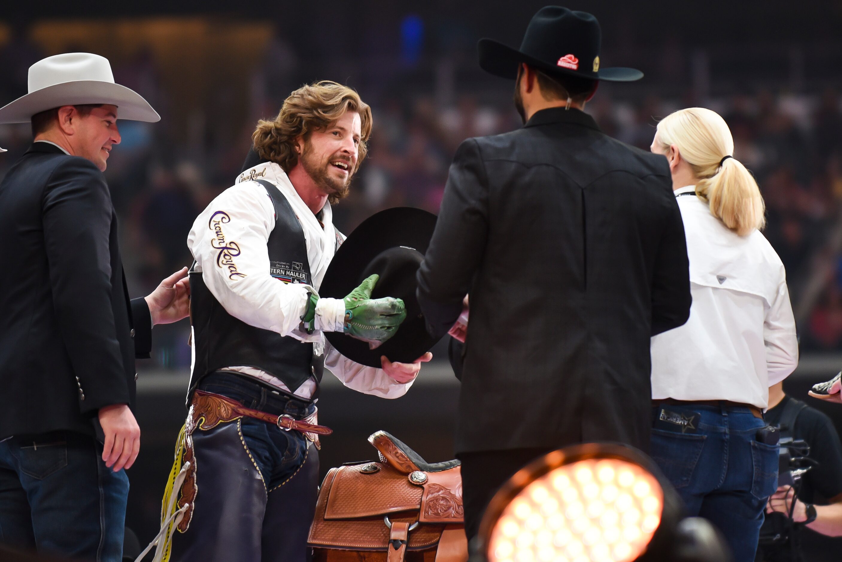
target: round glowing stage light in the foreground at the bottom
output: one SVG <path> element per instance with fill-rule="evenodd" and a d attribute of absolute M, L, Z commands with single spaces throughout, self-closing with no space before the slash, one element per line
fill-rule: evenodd
<path fill-rule="evenodd" d="M 700 538 L 699 523 L 679 528 L 682 510 L 675 490 L 642 453 L 616 444 L 577 445 L 546 454 L 504 484 L 482 520 L 474 559 L 727 559 L 717 533 L 707 528 Z"/>

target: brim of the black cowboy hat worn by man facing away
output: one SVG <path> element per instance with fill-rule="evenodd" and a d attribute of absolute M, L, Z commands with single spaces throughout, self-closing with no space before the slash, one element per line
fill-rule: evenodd
<path fill-rule="evenodd" d="M 636 68 L 626 68 L 624 66 L 600 68 L 595 73 L 574 71 L 540 61 L 520 52 L 520 50 L 513 49 L 509 45 L 504 45 L 493 39 L 479 40 L 477 51 L 479 53 L 479 66 L 482 70 L 494 76 L 509 78 L 509 80 L 514 80 L 518 77 L 518 65 L 521 62 L 525 62 L 529 66 L 535 66 L 550 75 L 575 76 L 605 82 L 635 82 L 643 77 L 643 73 Z"/>

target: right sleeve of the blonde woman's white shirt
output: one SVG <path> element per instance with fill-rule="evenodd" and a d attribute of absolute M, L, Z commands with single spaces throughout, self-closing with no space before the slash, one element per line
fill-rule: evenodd
<path fill-rule="evenodd" d="M 781 284 L 775 293 L 775 300 L 766 312 L 763 324 L 763 339 L 766 345 L 766 371 L 769 385 L 786 379 L 798 366 L 798 340 L 795 317 L 786 287 L 786 274 L 781 266 Z"/>

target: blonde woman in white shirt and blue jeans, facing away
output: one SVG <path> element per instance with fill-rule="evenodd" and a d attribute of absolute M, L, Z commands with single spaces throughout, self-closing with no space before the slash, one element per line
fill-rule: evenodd
<path fill-rule="evenodd" d="M 798 362 L 781 259 L 760 233 L 764 203 L 733 157 L 725 121 L 690 108 L 658 124 L 685 224 L 693 305 L 684 326 L 652 338 L 652 455 L 692 515 L 754 560 L 766 499 L 777 487 L 769 387 Z"/>

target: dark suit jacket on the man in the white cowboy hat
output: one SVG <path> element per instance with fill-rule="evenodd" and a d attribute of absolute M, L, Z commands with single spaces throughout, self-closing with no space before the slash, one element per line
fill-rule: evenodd
<path fill-rule="evenodd" d="M 102 172 L 33 143 L 0 183 L 0 240 L 0 438 L 93 434 L 99 408 L 134 402 L 135 358 L 152 341 Z"/>

